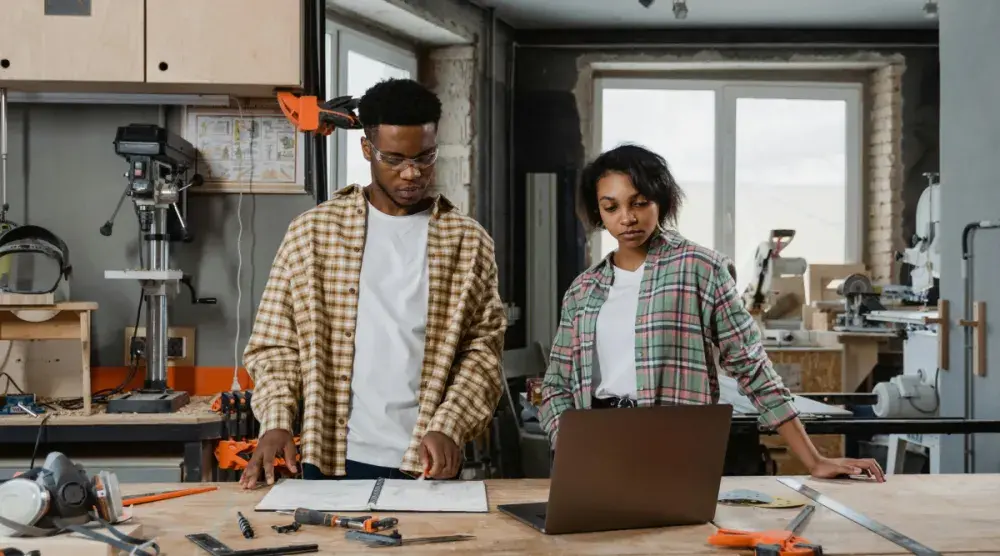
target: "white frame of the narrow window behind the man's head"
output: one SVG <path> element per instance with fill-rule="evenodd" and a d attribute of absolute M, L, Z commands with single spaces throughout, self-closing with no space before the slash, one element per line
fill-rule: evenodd
<path fill-rule="evenodd" d="M 390 44 L 377 37 L 353 29 L 338 21 L 327 18 L 326 21 L 326 90 L 330 98 L 347 94 L 348 67 L 347 57 L 351 51 L 410 72 L 413 79 L 417 78 L 416 50 L 402 48 Z M 347 185 L 347 130 L 334 130 L 327 140 L 327 191 L 329 197 Z"/>

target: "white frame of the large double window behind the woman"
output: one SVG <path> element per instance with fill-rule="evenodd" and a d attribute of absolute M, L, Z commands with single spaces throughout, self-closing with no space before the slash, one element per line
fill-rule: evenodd
<path fill-rule="evenodd" d="M 864 257 L 864 85 L 854 82 L 673 79 L 599 76 L 594 79 L 591 153 L 602 151 L 605 89 L 699 90 L 715 93 L 715 222 L 713 249 L 733 257 L 736 249 L 736 106 L 740 98 L 841 100 L 845 116 L 845 264 Z M 591 237 L 591 264 L 601 250 L 600 230 Z M 761 239 L 763 241 L 764 238 Z M 736 261 L 740 264 L 739 261 Z"/>

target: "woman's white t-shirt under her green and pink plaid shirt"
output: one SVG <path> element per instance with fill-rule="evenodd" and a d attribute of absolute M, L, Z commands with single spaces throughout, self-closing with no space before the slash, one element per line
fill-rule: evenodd
<path fill-rule="evenodd" d="M 597 398 L 636 399 L 635 321 L 645 266 L 631 272 L 614 267 L 614 284 L 597 314 L 597 364 L 593 376 Z"/>

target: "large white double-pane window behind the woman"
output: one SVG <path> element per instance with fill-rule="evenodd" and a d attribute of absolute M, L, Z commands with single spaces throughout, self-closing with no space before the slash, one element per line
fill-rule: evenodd
<path fill-rule="evenodd" d="M 685 195 L 678 230 L 738 269 L 773 229 L 795 230 L 787 256 L 856 263 L 861 98 L 860 84 L 601 78 L 594 146 L 662 155 Z M 598 257 L 617 246 L 595 243 Z"/>

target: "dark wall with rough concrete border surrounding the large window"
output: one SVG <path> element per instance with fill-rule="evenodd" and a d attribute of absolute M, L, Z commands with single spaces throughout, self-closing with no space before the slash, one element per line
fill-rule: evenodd
<path fill-rule="evenodd" d="M 738 35 L 738 36 L 737 36 Z M 783 35 L 783 36 L 781 36 Z M 830 40 L 826 40 L 829 38 Z M 912 48 L 880 48 L 872 43 L 871 37 L 856 37 L 833 33 L 820 38 L 808 35 L 795 36 L 794 33 L 745 32 L 713 33 L 699 32 L 697 36 L 683 33 L 643 32 L 532 32 L 516 37 L 520 43 L 516 50 L 515 64 L 515 150 L 514 179 L 516 206 L 515 213 L 524 210 L 524 177 L 532 172 L 557 172 L 573 183 L 586 159 L 589 143 L 589 125 L 592 100 L 589 97 L 591 83 L 588 73 L 591 64 L 607 61 L 678 61 L 698 59 L 719 60 L 853 60 L 884 61 L 897 66 L 905 64 L 901 77 L 896 71 L 885 71 L 884 75 L 872 75 L 867 80 L 869 99 L 885 97 L 883 88 L 901 92 L 900 99 L 891 100 L 887 109 L 871 116 L 884 120 L 886 127 L 894 131 L 889 138 L 895 143 L 891 153 L 881 153 L 877 144 L 869 144 L 870 152 L 882 154 L 883 159 L 891 154 L 892 172 L 883 176 L 878 169 L 880 159 L 870 155 L 866 164 L 866 184 L 873 187 L 868 191 L 873 208 L 864 222 L 869 227 L 883 220 L 892 222 L 888 245 L 880 253 L 883 273 L 888 271 L 889 247 L 902 247 L 905 238 L 913 231 L 913 212 L 920 191 L 925 186 L 921 172 L 936 169 L 937 163 L 937 51 L 933 37 L 926 35 L 911 40 L 906 36 L 879 38 L 880 41 L 913 42 Z M 809 40 L 824 43 L 851 43 L 840 48 L 816 49 L 799 43 Z M 853 42 L 852 42 L 853 41 Z M 746 48 L 738 44 L 747 43 Z M 774 46 L 780 42 L 795 42 L 795 46 Z M 637 44 L 641 43 L 641 44 Z M 684 43 L 683 47 L 671 48 L 671 44 Z M 761 43 L 768 43 L 767 48 Z M 607 45 L 587 47 L 587 44 Z M 714 44 L 724 44 L 714 47 Z M 928 46 L 923 46 L 927 44 Z M 628 48 L 626 48 L 626 45 Z M 704 45 L 700 47 L 698 45 Z M 901 69 L 901 68 L 899 68 Z M 871 72 L 868 72 L 871 73 Z M 816 77 L 815 75 L 812 77 Z M 882 96 L 879 96 L 882 95 Z M 891 93 L 890 93 L 891 96 Z M 897 95 L 898 96 L 898 95 Z M 874 106 L 874 103 L 871 103 Z M 875 120 L 869 119 L 871 125 Z M 637 123 L 638 125 L 638 123 Z M 900 137 L 900 127 L 901 134 Z M 900 149 L 902 154 L 900 157 Z M 884 193 L 879 193 L 885 189 Z M 560 276 L 561 288 L 568 286 L 572 278 L 587 264 L 586 238 L 583 229 L 575 221 L 573 199 L 566 198 L 560 213 Z M 884 202 L 882 210 L 874 210 Z M 883 219 L 882 216 L 885 216 Z M 886 235 L 890 235 L 888 232 Z M 520 234 L 514 238 L 515 245 L 524 245 Z M 866 242 L 868 252 L 875 256 L 871 241 Z M 523 248 L 522 248 L 523 251 Z M 882 261 L 882 259 L 886 259 Z M 524 257 L 514 261 L 518 276 L 526 271 Z M 893 269 L 894 270 L 894 269 Z M 524 292 L 515 292 L 515 301 L 523 303 Z M 511 332 L 514 342 L 523 341 L 523 328 Z M 510 337 L 510 335 L 509 335 Z"/>

